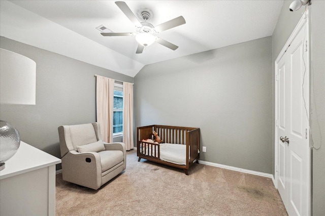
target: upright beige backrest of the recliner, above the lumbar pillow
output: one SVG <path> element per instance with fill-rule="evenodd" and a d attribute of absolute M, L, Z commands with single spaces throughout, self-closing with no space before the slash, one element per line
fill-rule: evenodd
<path fill-rule="evenodd" d="M 77 146 L 97 142 L 99 140 L 99 129 L 99 125 L 96 122 L 59 126 L 61 156 L 63 157 L 69 151 L 76 151 Z"/>

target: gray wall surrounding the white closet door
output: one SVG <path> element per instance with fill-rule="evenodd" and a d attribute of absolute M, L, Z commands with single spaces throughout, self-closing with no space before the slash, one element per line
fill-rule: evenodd
<path fill-rule="evenodd" d="M 275 59 L 279 55 L 291 32 L 293 32 L 294 28 L 298 24 L 298 21 L 300 20 L 304 11 L 303 9 L 300 9 L 296 12 L 289 12 L 288 8 L 290 3 L 291 1 L 284 1 L 280 17 L 273 32 L 273 71 Z M 311 38 L 310 44 L 312 56 L 312 114 L 310 121 L 314 146 L 321 146 L 319 150 L 312 150 L 312 213 L 313 215 L 317 216 L 323 215 L 325 212 L 325 1 L 312 0 L 312 5 L 309 7 L 309 11 Z M 274 95 L 272 107 L 274 107 Z M 272 119 L 274 119 L 274 112 Z M 274 174 L 274 168 L 272 173 Z"/>

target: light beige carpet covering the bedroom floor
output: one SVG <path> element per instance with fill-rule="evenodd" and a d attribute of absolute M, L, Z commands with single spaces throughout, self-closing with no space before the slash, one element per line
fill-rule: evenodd
<path fill-rule="evenodd" d="M 56 215 L 287 215 L 270 178 L 194 164 L 177 169 L 127 152 L 126 170 L 99 190 L 56 175 Z"/>

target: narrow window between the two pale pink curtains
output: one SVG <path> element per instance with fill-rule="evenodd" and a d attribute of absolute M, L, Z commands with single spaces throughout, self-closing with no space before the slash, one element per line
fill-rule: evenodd
<path fill-rule="evenodd" d="M 113 135 L 119 136 L 123 132 L 123 85 L 115 83 L 113 107 Z"/>

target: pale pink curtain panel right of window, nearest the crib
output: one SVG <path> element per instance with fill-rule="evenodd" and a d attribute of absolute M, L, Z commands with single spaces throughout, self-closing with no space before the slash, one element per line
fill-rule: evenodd
<path fill-rule="evenodd" d="M 123 143 L 126 150 L 134 148 L 133 142 L 133 84 L 123 82 Z"/>

